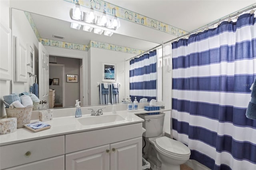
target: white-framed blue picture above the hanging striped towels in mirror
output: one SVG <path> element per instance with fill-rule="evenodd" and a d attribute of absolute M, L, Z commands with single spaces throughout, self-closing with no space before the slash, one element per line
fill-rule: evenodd
<path fill-rule="evenodd" d="M 116 82 L 116 64 L 102 63 L 102 82 Z"/>

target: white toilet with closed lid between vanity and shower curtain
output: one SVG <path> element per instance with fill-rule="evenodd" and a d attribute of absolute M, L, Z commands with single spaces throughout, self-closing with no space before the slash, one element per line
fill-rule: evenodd
<path fill-rule="evenodd" d="M 164 113 L 156 115 L 138 115 L 145 121 L 142 127 L 146 129 L 142 135 L 148 146 L 148 162 L 152 170 L 180 170 L 190 157 L 190 149 L 183 143 L 162 136 Z"/>

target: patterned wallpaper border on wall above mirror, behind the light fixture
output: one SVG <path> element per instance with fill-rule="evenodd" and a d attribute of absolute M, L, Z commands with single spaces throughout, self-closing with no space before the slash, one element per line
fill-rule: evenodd
<path fill-rule="evenodd" d="M 76 2 L 78 2 L 78 0 L 64 0 L 64 1 L 71 2 L 74 4 Z M 158 20 L 154 20 L 152 18 L 143 16 L 136 12 L 126 10 L 125 8 L 121 8 L 119 6 L 110 4 L 103 0 L 79 0 L 79 4 L 86 8 L 90 8 L 92 6 L 94 8 L 94 10 L 99 11 L 99 12 L 102 12 L 103 10 L 105 10 L 106 14 L 108 14 L 108 15 L 112 16 L 112 15 L 116 14 L 116 16 L 118 18 L 124 19 L 126 21 L 130 21 L 130 22 L 134 22 L 134 23 L 140 24 L 142 26 L 146 26 L 146 27 L 152 28 L 154 30 L 166 32 L 166 33 L 172 34 L 174 36 L 183 36 L 184 34 L 188 33 L 186 31 L 176 28 L 174 26 L 170 26 L 170 25 L 160 22 Z"/>

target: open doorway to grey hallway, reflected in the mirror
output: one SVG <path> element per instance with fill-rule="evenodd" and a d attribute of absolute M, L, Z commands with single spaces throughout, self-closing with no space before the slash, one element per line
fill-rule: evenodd
<path fill-rule="evenodd" d="M 52 60 L 52 59 L 55 60 Z M 55 89 L 54 107 L 74 107 L 75 101 L 80 98 L 82 71 L 80 66 L 82 59 L 50 55 L 49 78 L 59 80 L 58 85 L 50 85 Z M 54 61 L 54 62 L 53 62 Z M 77 81 L 67 81 L 67 75 L 75 75 Z"/>

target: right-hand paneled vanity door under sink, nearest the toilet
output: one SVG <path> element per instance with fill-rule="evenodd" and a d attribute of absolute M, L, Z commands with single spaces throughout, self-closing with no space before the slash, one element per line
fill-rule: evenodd
<path fill-rule="evenodd" d="M 110 170 L 141 170 L 142 137 L 110 144 Z"/>

